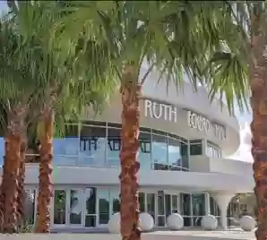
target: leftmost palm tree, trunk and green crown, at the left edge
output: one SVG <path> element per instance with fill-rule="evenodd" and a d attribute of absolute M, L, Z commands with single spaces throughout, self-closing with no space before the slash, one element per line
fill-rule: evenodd
<path fill-rule="evenodd" d="M 18 175 L 23 160 L 21 150 L 26 136 L 26 116 L 35 80 L 30 74 L 29 48 L 16 33 L 12 21 L 0 24 L 1 96 L 6 113 L 3 181 L 1 184 L 1 228 L 12 233 L 17 225 Z M 26 84 L 27 82 L 27 84 Z"/>

